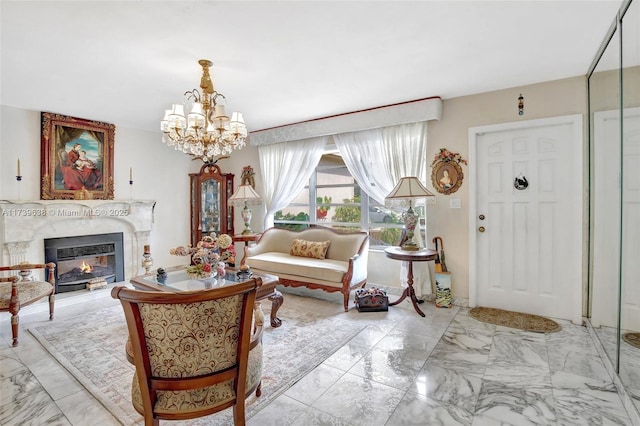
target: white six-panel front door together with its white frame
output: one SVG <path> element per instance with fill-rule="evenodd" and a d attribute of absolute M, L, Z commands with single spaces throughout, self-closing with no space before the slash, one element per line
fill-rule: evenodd
<path fill-rule="evenodd" d="M 582 117 L 474 128 L 470 306 L 581 321 Z"/>

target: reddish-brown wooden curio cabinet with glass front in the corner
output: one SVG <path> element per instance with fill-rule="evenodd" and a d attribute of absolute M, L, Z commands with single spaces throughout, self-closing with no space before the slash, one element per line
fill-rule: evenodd
<path fill-rule="evenodd" d="M 233 207 L 227 200 L 233 194 L 233 174 L 222 173 L 217 165 L 203 165 L 191 178 L 191 245 L 205 235 L 233 236 Z"/>

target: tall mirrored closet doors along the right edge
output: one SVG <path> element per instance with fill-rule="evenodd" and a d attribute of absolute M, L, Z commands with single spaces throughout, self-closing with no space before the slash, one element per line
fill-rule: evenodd
<path fill-rule="evenodd" d="M 589 74 L 589 321 L 640 411 L 640 0 Z"/>

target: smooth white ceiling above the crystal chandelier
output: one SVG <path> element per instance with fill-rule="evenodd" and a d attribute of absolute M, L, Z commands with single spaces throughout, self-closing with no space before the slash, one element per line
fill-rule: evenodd
<path fill-rule="evenodd" d="M 205 58 L 255 131 L 584 75 L 621 3 L 2 0 L 0 102 L 157 130 Z"/>

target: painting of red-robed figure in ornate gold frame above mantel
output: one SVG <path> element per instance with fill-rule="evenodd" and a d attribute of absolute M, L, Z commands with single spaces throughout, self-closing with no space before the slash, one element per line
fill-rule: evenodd
<path fill-rule="evenodd" d="M 113 200 L 115 126 L 99 121 L 41 114 L 43 200 Z"/>

